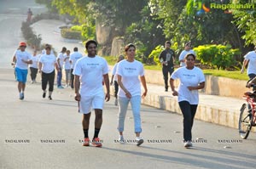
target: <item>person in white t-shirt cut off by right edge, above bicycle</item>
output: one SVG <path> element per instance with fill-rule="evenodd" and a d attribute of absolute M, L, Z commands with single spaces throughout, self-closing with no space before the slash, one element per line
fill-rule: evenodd
<path fill-rule="evenodd" d="M 256 76 L 256 46 L 254 47 L 253 51 L 248 52 L 244 56 L 241 73 L 244 72 L 247 65 L 247 76 L 249 76 L 249 79 L 252 80 Z"/>

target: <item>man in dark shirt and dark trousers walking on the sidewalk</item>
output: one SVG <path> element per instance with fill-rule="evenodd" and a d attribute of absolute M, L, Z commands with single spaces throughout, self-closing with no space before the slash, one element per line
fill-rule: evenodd
<path fill-rule="evenodd" d="M 174 59 L 175 59 L 175 52 L 171 49 L 171 42 L 166 41 L 166 48 L 162 51 L 159 55 L 160 63 L 162 65 L 162 72 L 165 80 L 165 88 L 166 92 L 168 91 L 168 72 L 170 76 L 174 70 Z"/>

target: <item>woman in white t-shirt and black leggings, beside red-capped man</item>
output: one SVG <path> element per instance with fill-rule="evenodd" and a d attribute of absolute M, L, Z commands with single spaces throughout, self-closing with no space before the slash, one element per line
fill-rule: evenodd
<path fill-rule="evenodd" d="M 46 87 L 49 83 L 49 97 L 51 98 L 51 94 L 54 90 L 54 82 L 55 82 L 55 69 L 60 71 L 59 66 L 57 64 L 57 60 L 54 54 L 50 54 L 51 47 L 48 45 L 45 47 L 46 54 L 43 54 L 38 62 L 38 72 L 42 74 L 42 89 L 43 89 L 43 98 L 46 95 Z"/>

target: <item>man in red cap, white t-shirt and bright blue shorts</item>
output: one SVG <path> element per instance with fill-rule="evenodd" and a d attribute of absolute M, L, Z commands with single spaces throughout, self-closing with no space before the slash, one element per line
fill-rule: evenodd
<path fill-rule="evenodd" d="M 20 42 L 20 50 L 16 50 L 13 57 L 15 65 L 15 74 L 18 81 L 18 90 L 20 99 L 24 99 L 24 91 L 26 87 L 27 67 L 32 64 L 32 55 L 26 52 L 26 42 Z"/>

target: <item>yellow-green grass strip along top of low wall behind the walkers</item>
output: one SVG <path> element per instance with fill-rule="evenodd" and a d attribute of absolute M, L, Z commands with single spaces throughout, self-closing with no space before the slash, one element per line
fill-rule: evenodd
<path fill-rule="evenodd" d="M 114 65 L 117 61 L 116 57 L 113 56 L 106 56 L 104 57 L 108 61 L 108 65 Z M 146 70 L 161 70 L 160 65 L 144 65 L 144 68 Z M 238 80 L 248 80 L 247 72 L 244 72 L 243 74 L 240 73 L 240 70 L 203 70 L 205 75 L 211 75 L 211 76 L 222 76 L 222 77 L 228 77 L 231 79 L 238 79 Z"/>

